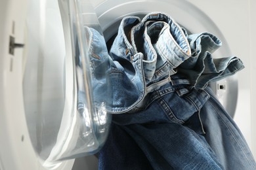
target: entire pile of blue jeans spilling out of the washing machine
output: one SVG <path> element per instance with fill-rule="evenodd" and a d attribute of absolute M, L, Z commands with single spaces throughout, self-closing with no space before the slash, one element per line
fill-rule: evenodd
<path fill-rule="evenodd" d="M 95 100 L 107 87 L 113 92 L 99 169 L 256 169 L 242 133 L 208 86 L 244 68 L 236 56 L 213 58 L 221 47 L 215 35 L 188 35 L 168 14 L 152 12 L 123 18 L 108 52 L 102 35 L 86 29 Z"/>

